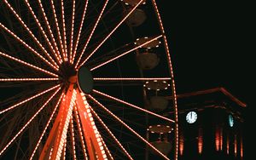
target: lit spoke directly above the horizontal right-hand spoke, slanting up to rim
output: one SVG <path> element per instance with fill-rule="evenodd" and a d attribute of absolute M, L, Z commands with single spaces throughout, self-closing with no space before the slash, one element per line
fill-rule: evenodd
<path fill-rule="evenodd" d="M 151 43 L 151 42 L 153 42 L 154 40 L 156 40 L 156 39 L 158 39 L 158 38 L 160 38 L 160 37 L 162 37 L 162 35 L 160 35 L 160 36 L 158 36 L 158 37 L 154 37 L 153 39 L 151 39 L 151 40 L 149 40 L 149 41 L 147 41 L 147 42 L 145 42 L 145 43 L 143 43 L 143 44 L 141 44 L 141 45 L 138 45 L 137 47 L 135 47 L 135 48 L 133 48 L 133 49 L 129 49 L 129 50 L 126 51 L 125 53 L 119 54 L 119 55 L 117 55 L 117 56 L 111 58 L 110 60 L 107 60 L 107 61 L 103 62 L 102 64 L 91 68 L 90 71 L 96 70 L 97 68 L 99 68 L 99 67 L 101 67 L 101 66 L 107 65 L 108 63 L 112 62 L 113 60 L 117 60 L 117 59 L 119 59 L 120 57 L 124 56 L 125 54 L 129 54 L 129 53 L 135 51 L 136 49 L 139 49 L 139 48 L 143 47 L 144 45 L 146 45 L 146 44 L 148 44 L 148 43 Z"/>

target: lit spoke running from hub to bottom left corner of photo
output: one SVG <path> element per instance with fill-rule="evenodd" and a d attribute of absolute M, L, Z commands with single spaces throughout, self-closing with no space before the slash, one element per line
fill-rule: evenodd
<path fill-rule="evenodd" d="M 0 151 L 0 156 L 3 154 L 3 152 L 16 140 L 16 138 L 26 129 L 26 127 L 32 122 L 32 120 L 38 116 L 38 113 L 44 109 L 45 106 L 48 105 L 49 101 L 52 100 L 52 98 L 60 91 L 61 87 L 59 87 L 54 94 L 52 94 L 48 100 L 44 103 L 43 106 L 40 107 L 40 109 L 29 119 L 28 122 L 19 130 L 17 134 L 15 134 L 15 137 L 12 138 L 12 140 L 9 141 L 9 143 L 3 147 L 3 150 Z"/>

